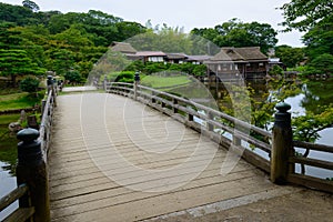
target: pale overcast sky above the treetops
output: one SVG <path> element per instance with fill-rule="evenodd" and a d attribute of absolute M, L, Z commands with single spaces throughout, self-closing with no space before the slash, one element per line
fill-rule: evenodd
<path fill-rule="evenodd" d="M 22 0 L 0 0 L 11 4 L 21 4 Z M 290 0 L 32 0 L 41 11 L 88 12 L 100 10 L 141 24 L 150 19 L 152 24 L 167 23 L 169 27 L 184 27 L 189 32 L 193 28 L 213 28 L 232 18 L 243 22 L 258 21 L 269 23 L 275 30 L 282 27 L 281 7 Z M 302 47 L 299 32 L 279 33 L 278 44 Z"/>

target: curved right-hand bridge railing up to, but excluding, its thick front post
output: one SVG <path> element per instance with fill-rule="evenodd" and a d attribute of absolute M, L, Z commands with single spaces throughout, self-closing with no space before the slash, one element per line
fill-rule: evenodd
<path fill-rule="evenodd" d="M 134 89 L 132 83 L 107 83 L 105 91 L 134 98 Z M 137 94 L 140 102 L 143 102 L 154 109 L 160 110 L 161 112 L 175 118 L 176 120 L 180 120 L 194 130 L 211 137 L 215 142 L 224 144 L 224 147 L 236 145 L 238 149 L 243 152 L 243 158 L 246 161 L 253 163 L 254 165 L 261 168 L 266 172 L 270 172 L 270 163 L 268 159 L 271 153 L 271 144 L 269 143 L 269 141 L 272 139 L 272 133 L 258 127 L 251 125 L 244 121 L 238 120 L 212 108 L 202 105 L 198 102 L 149 87 L 138 84 Z M 199 112 L 198 110 L 202 112 Z M 194 121 L 193 117 L 204 121 L 206 124 L 205 128 L 203 125 L 199 125 L 199 123 Z M 221 120 L 223 120 L 224 122 L 222 122 Z M 232 139 L 223 135 L 221 131 L 229 132 Z M 250 132 L 261 135 L 265 139 L 265 141 L 250 135 Z M 242 141 L 248 142 L 249 144 L 252 144 L 265 152 L 266 158 L 262 158 L 250 149 L 243 147 Z"/>

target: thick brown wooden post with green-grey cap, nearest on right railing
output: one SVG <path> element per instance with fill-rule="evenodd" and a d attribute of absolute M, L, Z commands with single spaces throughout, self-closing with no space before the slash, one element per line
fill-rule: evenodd
<path fill-rule="evenodd" d="M 289 157 L 293 153 L 293 132 L 291 128 L 291 105 L 276 104 L 275 122 L 273 127 L 273 145 L 271 153 L 271 181 L 279 184 L 286 183 L 289 172 Z"/>

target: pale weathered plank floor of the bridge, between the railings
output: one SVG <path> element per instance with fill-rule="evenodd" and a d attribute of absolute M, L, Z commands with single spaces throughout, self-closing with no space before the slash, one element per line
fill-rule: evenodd
<path fill-rule="evenodd" d="M 52 221 L 138 221 L 279 191 L 200 133 L 120 95 L 58 98 L 49 158 Z M 230 167 L 221 174 L 221 167 Z M 278 192 L 279 193 L 279 192 Z"/>

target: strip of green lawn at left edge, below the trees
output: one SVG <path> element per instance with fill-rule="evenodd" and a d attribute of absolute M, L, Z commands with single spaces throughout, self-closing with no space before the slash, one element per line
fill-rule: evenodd
<path fill-rule="evenodd" d="M 6 94 L 0 97 L 0 111 L 31 108 L 40 104 L 41 99 L 29 95 L 28 92 Z"/>

